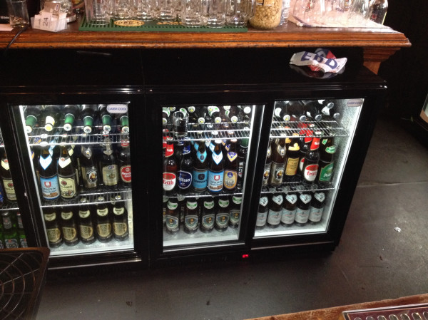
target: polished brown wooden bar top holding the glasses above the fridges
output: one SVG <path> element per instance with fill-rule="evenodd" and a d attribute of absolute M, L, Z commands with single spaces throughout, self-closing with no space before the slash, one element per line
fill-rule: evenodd
<path fill-rule="evenodd" d="M 79 19 L 78 19 L 79 20 Z M 382 61 L 411 43 L 403 33 L 382 27 L 306 28 L 288 22 L 271 31 L 248 32 L 151 32 L 78 31 L 79 21 L 57 33 L 31 29 L 21 33 L 10 48 L 298 48 L 362 47 L 365 66 L 377 73 Z M 0 48 L 6 48 L 17 29 L 0 32 Z"/>

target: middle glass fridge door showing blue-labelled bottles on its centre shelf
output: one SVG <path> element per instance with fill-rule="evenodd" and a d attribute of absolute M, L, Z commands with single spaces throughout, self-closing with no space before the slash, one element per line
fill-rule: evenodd
<path fill-rule="evenodd" d="M 162 105 L 163 248 L 237 241 L 260 105 Z"/>

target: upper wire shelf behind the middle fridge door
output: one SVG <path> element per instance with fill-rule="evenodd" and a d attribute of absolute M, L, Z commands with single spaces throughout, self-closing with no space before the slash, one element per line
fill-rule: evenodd
<path fill-rule="evenodd" d="M 229 128 L 221 129 L 223 126 L 227 124 Z M 194 125 L 198 125 L 197 123 L 189 123 L 188 128 L 192 128 Z M 238 122 L 238 123 L 218 123 L 220 128 L 213 128 L 210 130 L 188 130 L 188 136 L 185 139 L 175 139 L 173 132 L 164 131 L 163 139 L 170 141 L 183 141 L 183 140 L 232 140 L 232 139 L 244 139 L 250 138 L 250 128 L 248 122 Z"/>

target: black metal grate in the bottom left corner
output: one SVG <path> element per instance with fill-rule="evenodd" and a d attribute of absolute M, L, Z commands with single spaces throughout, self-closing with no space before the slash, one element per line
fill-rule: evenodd
<path fill-rule="evenodd" d="M 35 319 L 48 248 L 0 251 L 0 319 Z"/>

